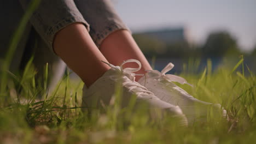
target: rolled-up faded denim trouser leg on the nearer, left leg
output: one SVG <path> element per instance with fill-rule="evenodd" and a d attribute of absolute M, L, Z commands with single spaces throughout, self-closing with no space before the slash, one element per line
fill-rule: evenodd
<path fill-rule="evenodd" d="M 19 0 L 26 10 L 32 0 Z M 55 34 L 72 23 L 81 22 L 89 31 L 89 24 L 72 0 L 43 0 L 31 16 L 30 22 L 46 45 L 53 50 Z"/>

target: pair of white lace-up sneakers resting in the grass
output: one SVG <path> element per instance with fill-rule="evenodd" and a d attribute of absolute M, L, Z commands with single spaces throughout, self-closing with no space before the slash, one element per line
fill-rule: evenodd
<path fill-rule="evenodd" d="M 125 68 L 125 63 L 135 62 L 138 68 Z M 104 62 L 106 63 L 106 62 Z M 226 111 L 219 104 L 206 103 L 197 100 L 174 82 L 187 83 L 185 79 L 176 75 L 165 74 L 174 65 L 169 63 L 161 73 L 158 70 L 148 70 L 138 82 L 135 81 L 135 73 L 141 69 L 141 63 L 136 59 L 129 59 L 114 66 L 108 64 L 111 69 L 106 71 L 89 88 L 83 88 L 82 107 L 88 109 L 89 113 L 93 109 L 99 109 L 104 105 L 109 105 L 117 90 L 117 85 L 122 88 L 121 107 L 129 105 L 132 95 L 136 97 L 136 105 L 146 103 L 148 109 L 160 109 L 173 118 L 178 118 L 179 125 L 193 124 L 197 120 L 205 121 L 207 114 L 211 110 L 213 115 L 226 116 Z M 189 83 L 187 83 L 189 84 Z M 189 84 L 190 85 L 190 84 Z"/>

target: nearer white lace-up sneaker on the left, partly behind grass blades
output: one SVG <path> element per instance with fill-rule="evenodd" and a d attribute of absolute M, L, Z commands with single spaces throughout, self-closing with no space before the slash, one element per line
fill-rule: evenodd
<path fill-rule="evenodd" d="M 125 63 L 135 62 L 139 65 L 138 68 L 125 68 Z M 104 62 L 106 63 L 106 62 Z M 140 103 L 146 103 L 149 105 L 149 109 L 156 108 L 167 111 L 173 117 L 179 119 L 179 124 L 187 125 L 187 118 L 183 115 L 182 110 L 178 106 L 174 106 L 160 100 L 152 92 L 149 92 L 147 88 L 140 85 L 135 81 L 135 71 L 141 69 L 141 63 L 136 59 L 129 59 L 121 64 L 121 66 L 114 66 L 108 64 L 111 69 L 106 71 L 98 80 L 96 80 L 89 88 L 84 86 L 83 88 L 83 102 L 82 107 L 92 111 L 92 109 L 101 109 L 104 105 L 109 105 L 114 93 L 117 83 L 121 85 L 121 107 L 126 107 L 132 95 L 136 95 L 136 105 Z"/>

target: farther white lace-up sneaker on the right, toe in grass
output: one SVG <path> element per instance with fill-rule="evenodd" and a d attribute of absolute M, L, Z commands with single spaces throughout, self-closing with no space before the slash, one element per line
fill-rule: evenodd
<path fill-rule="evenodd" d="M 166 74 L 173 67 L 174 65 L 169 63 L 161 72 L 158 70 L 148 70 L 148 73 L 139 79 L 138 82 L 162 101 L 179 106 L 185 116 L 187 116 L 189 124 L 205 121 L 210 111 L 214 117 L 226 117 L 226 110 L 220 104 L 206 103 L 205 101 L 198 100 L 175 85 L 173 81 L 181 84 L 190 84 L 182 77 Z"/>

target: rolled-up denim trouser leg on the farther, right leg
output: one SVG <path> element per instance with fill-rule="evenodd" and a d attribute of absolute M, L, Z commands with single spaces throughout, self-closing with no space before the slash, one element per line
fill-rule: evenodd
<path fill-rule="evenodd" d="M 90 23 L 90 35 L 98 48 L 109 34 L 129 28 L 120 19 L 111 0 L 80 1 L 74 0 L 86 22 Z"/>

